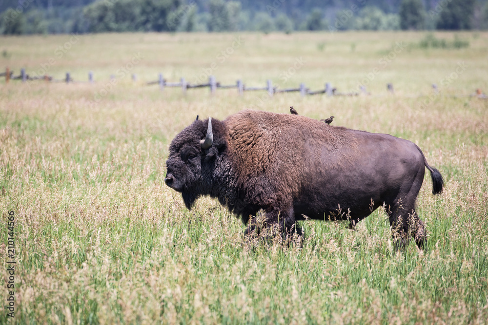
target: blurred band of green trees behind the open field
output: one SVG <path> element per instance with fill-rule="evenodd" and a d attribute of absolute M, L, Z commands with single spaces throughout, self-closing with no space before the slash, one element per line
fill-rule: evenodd
<path fill-rule="evenodd" d="M 488 29 L 487 0 L 2 0 L 0 34 Z"/>

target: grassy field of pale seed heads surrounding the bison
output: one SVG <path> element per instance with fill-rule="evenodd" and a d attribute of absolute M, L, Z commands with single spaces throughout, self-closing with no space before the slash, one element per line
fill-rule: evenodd
<path fill-rule="evenodd" d="M 91 70 L 96 79 L 0 82 L 0 214 L 6 225 L 15 213 L 17 262 L 15 318 L 2 309 L 0 323 L 486 324 L 488 100 L 468 95 L 488 90 L 488 33 L 435 34 L 469 42 L 460 49 L 422 47 L 425 36 L 0 37 L 2 69 L 56 78 L 69 71 L 82 81 Z M 128 65 L 134 56 L 139 61 Z M 264 86 L 269 78 L 315 90 L 331 82 L 346 92 L 367 83 L 371 96 L 191 89 L 184 97 L 144 85 L 160 72 L 193 82 L 209 68 L 224 84 Z M 432 83 L 440 95 L 432 96 Z M 355 232 L 342 222 L 305 221 L 301 248 L 246 246 L 244 225 L 217 201 L 202 198 L 189 211 L 164 185 L 169 142 L 197 114 L 287 113 L 290 105 L 419 145 L 445 179 L 444 193 L 433 196 L 426 173 L 418 197 L 426 251 L 412 242 L 396 252 L 382 209 Z M 12 259 L 1 229 L 6 269 Z M 12 289 L 2 275 L 7 306 Z"/>

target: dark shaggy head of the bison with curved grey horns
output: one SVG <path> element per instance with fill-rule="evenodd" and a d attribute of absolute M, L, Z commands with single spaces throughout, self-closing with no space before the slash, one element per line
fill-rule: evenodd
<path fill-rule="evenodd" d="M 182 193 L 188 209 L 199 196 L 209 194 L 213 158 L 222 147 L 222 141 L 216 140 L 208 118 L 207 123 L 195 120 L 171 141 L 164 182 Z"/>

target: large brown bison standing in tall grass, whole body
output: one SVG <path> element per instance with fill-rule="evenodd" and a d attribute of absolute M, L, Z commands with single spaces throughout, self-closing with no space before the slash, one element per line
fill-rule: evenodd
<path fill-rule="evenodd" d="M 397 245 L 412 235 L 426 243 L 415 199 L 430 171 L 433 194 L 443 179 L 413 142 L 388 134 L 327 127 L 305 117 L 245 110 L 220 121 L 195 120 L 171 142 L 166 185 L 182 193 L 191 209 L 203 195 L 256 229 L 301 235 L 304 215 L 318 220 L 350 220 L 355 226 L 378 207 L 386 207 Z"/>

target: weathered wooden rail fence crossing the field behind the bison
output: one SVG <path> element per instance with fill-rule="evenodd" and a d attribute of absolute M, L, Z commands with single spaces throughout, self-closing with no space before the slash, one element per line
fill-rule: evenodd
<path fill-rule="evenodd" d="M 22 80 L 22 82 L 26 81 L 33 81 L 33 80 L 44 80 L 45 82 L 65 82 L 65 83 L 80 83 L 83 81 L 75 81 L 69 72 L 66 73 L 66 76 L 63 79 L 55 79 L 53 76 L 29 76 L 25 73 L 25 69 L 20 69 L 20 74 L 15 76 L 14 71 L 11 71 L 8 67 L 5 69 L 5 72 L 0 73 L 0 77 L 5 77 L 5 82 L 8 83 L 10 80 Z M 110 76 L 111 80 L 115 79 L 115 76 Z M 132 74 L 132 81 L 136 81 L 137 76 Z M 88 82 L 94 83 L 93 72 L 88 72 Z M 336 88 L 333 88 L 330 82 L 325 83 L 324 89 L 319 90 L 310 90 L 309 88 L 305 87 L 305 83 L 300 83 L 298 88 L 285 88 L 279 89 L 279 87 L 273 86 L 271 79 L 266 80 L 266 86 L 264 87 L 248 87 L 244 84 L 244 82 L 239 79 L 237 80 L 236 84 L 234 85 L 223 85 L 215 79 L 215 76 L 209 76 L 207 83 L 201 84 L 190 84 L 186 82 L 184 78 L 181 78 L 179 82 L 169 82 L 163 78 L 162 74 L 158 74 L 158 80 L 148 81 L 145 82 L 145 85 L 159 85 L 160 89 L 163 91 L 166 87 L 178 87 L 182 88 L 183 95 L 186 95 L 186 91 L 188 89 L 193 88 L 210 88 L 210 93 L 214 94 L 217 89 L 232 89 L 236 88 L 239 92 L 239 95 L 243 95 L 244 91 L 267 91 L 269 96 L 273 96 L 274 94 L 280 93 L 292 93 L 292 92 L 299 92 L 301 96 L 308 96 L 308 95 L 321 95 L 325 94 L 326 96 L 359 96 L 359 95 L 371 95 L 371 93 L 366 91 L 365 86 L 360 87 L 360 92 L 349 92 L 349 93 L 342 93 L 338 92 Z M 392 83 L 386 84 L 386 89 L 388 93 L 394 94 L 394 88 Z M 434 95 L 438 95 L 440 93 L 436 84 L 432 84 L 432 90 Z M 429 96 L 429 95 L 423 95 Z M 477 98 L 488 99 L 488 96 L 485 95 L 480 89 L 476 89 L 473 94 L 470 95 L 459 95 L 453 97 L 463 97 L 463 96 L 474 96 Z M 417 96 L 418 97 L 418 96 Z"/>

